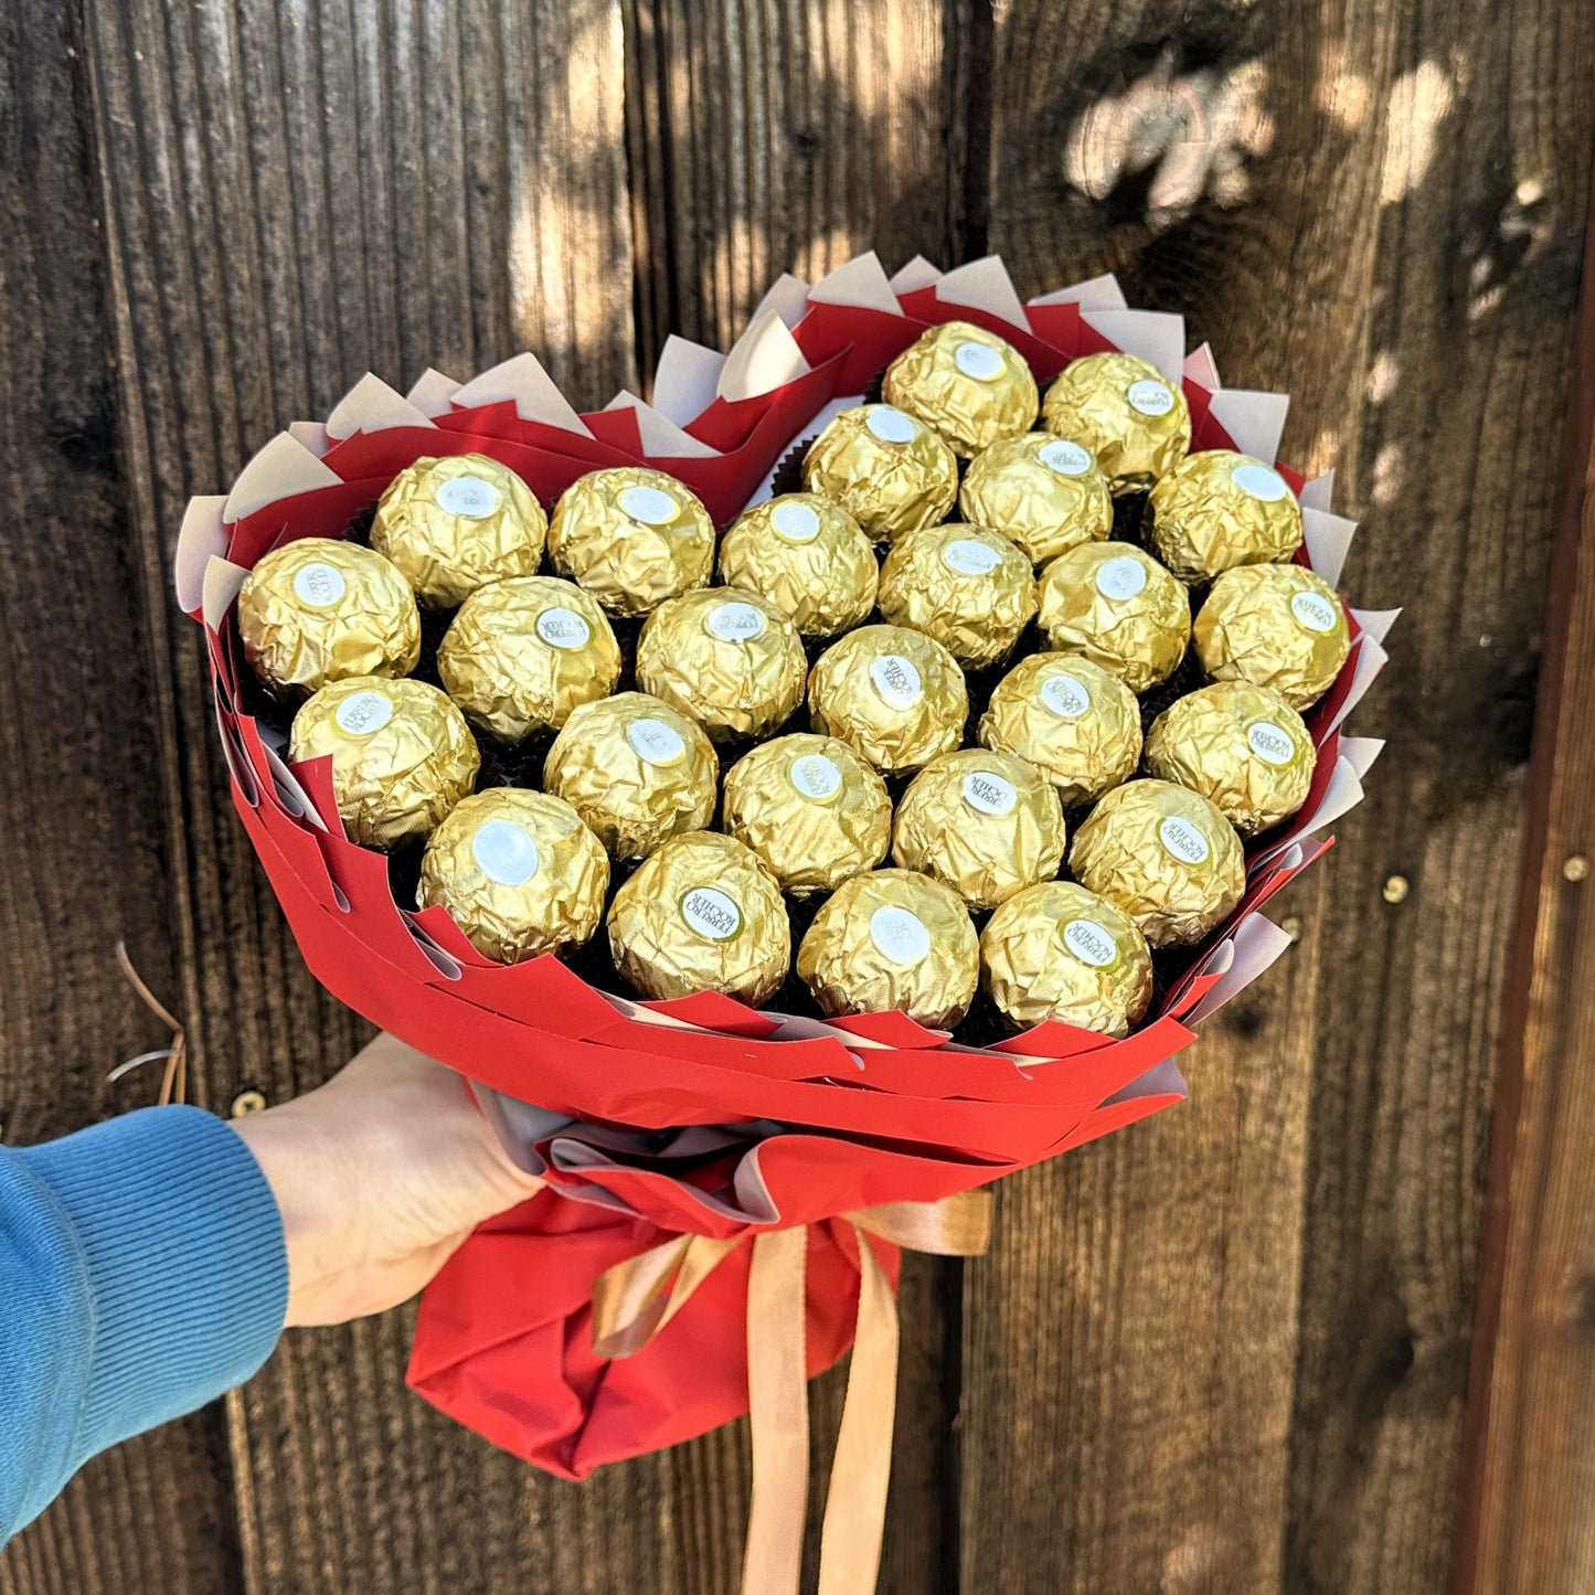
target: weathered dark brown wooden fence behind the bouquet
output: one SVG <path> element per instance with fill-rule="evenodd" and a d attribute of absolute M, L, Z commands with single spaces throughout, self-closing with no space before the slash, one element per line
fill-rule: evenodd
<path fill-rule="evenodd" d="M 1391 748 L 1190 1104 L 909 1260 L 882 1587 L 1590 1589 L 1592 148 L 1584 0 L 6 0 L 5 1137 L 148 1099 L 105 1080 L 161 1040 L 116 938 L 220 1112 L 362 1035 L 226 802 L 190 493 L 367 368 L 533 348 L 601 404 L 868 246 L 1112 268 L 1294 392 L 1349 592 L 1408 606 Z M 93 1463 L 0 1592 L 734 1589 L 743 1426 L 560 1483 L 405 1392 L 410 1322 Z"/>

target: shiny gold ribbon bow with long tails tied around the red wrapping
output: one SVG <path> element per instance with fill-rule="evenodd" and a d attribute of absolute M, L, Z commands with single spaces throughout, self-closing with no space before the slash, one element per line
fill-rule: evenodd
<path fill-rule="evenodd" d="M 841 1219 L 858 1243 L 858 1329 L 820 1533 L 818 1595 L 871 1595 L 880 1571 L 898 1314 L 892 1281 L 866 1235 L 911 1252 L 978 1257 L 990 1241 L 990 1191 L 935 1203 L 884 1203 Z M 678 1235 L 603 1273 L 593 1286 L 593 1349 L 641 1351 L 748 1236 Z M 809 1499 L 809 1369 L 804 1268 L 809 1230 L 761 1230 L 748 1262 L 748 1416 L 753 1499 L 743 1595 L 798 1595 Z"/>

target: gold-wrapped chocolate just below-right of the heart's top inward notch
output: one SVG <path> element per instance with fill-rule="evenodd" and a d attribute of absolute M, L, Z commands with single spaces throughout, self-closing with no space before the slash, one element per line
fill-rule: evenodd
<path fill-rule="evenodd" d="M 834 636 L 876 606 L 876 550 L 841 504 L 782 493 L 743 510 L 719 541 L 719 579 L 767 598 L 804 636 Z"/>

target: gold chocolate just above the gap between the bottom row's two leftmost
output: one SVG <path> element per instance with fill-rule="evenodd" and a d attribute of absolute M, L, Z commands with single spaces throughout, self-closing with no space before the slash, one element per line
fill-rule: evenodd
<path fill-rule="evenodd" d="M 718 778 L 703 727 L 646 692 L 573 708 L 542 766 L 542 785 L 582 817 L 611 858 L 643 858 L 708 825 Z"/>

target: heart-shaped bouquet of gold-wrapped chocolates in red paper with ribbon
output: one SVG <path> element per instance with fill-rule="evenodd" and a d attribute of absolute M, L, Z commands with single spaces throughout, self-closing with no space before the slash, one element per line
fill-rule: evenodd
<path fill-rule="evenodd" d="M 874 1587 L 900 1249 L 1183 1099 L 1380 750 L 1394 612 L 1286 404 L 1112 278 L 863 255 L 671 338 L 651 404 L 365 376 L 193 501 L 306 963 L 547 1179 L 427 1290 L 421 1394 L 573 1479 L 751 1408 L 762 1595 L 853 1345 L 823 1579 Z"/>

